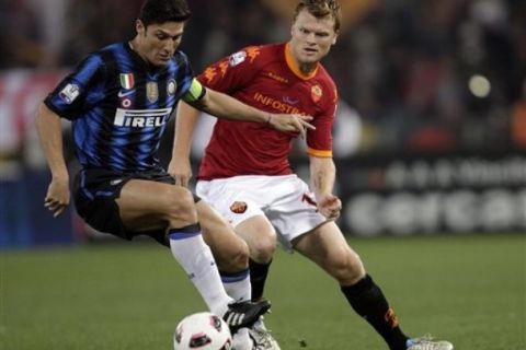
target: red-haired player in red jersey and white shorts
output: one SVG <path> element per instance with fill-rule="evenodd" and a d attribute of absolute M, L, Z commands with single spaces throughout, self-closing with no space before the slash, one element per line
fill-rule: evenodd
<path fill-rule="evenodd" d="M 391 350 L 450 350 L 453 345 L 447 341 L 410 339 L 402 332 L 380 288 L 365 272 L 359 256 L 334 222 L 342 208 L 332 194 L 335 166 L 331 127 L 338 93 L 320 60 L 336 43 L 339 30 L 336 1 L 302 0 L 296 8 L 288 43 L 244 48 L 198 77 L 204 85 L 262 110 L 313 117 L 316 129 L 309 129 L 306 136 L 313 194 L 293 174 L 288 162 L 290 141 L 297 133 L 278 133 L 265 125 L 226 119 L 218 120 L 214 128 L 196 191 L 248 243 L 253 300 L 263 294 L 279 241 L 333 277 L 351 306 Z M 195 109 L 180 106 L 169 173 L 183 186 L 192 175 L 188 154 L 197 117 Z M 259 349 L 279 349 L 262 323 L 252 329 L 252 335 Z"/>

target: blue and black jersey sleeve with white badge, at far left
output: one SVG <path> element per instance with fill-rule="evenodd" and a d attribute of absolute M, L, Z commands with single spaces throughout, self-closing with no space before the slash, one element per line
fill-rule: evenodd
<path fill-rule="evenodd" d="M 95 89 L 106 84 L 105 75 L 102 58 L 92 54 L 57 85 L 44 103 L 61 118 L 77 119 L 82 110 L 105 97 L 104 89 Z"/>

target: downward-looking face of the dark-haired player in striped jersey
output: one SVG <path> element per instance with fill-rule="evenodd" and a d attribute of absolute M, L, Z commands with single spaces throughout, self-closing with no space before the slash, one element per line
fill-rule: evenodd
<path fill-rule="evenodd" d="M 184 22 L 150 24 L 145 27 L 137 21 L 138 54 L 150 65 L 167 66 L 181 44 Z"/>

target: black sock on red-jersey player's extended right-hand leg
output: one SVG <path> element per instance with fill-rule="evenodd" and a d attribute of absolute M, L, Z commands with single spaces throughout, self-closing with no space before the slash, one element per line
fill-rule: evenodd
<path fill-rule="evenodd" d="M 405 350 L 408 337 L 398 326 L 397 315 L 380 288 L 368 275 L 353 285 L 342 287 L 342 292 L 354 311 L 386 340 L 389 349 Z"/>

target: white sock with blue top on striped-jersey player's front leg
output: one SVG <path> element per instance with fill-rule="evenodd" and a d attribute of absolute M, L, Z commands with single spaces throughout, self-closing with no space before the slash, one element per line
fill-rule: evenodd
<path fill-rule="evenodd" d="M 197 226 L 198 228 L 198 226 Z M 221 284 L 210 248 L 197 232 L 172 229 L 169 232 L 172 255 L 201 293 L 211 313 L 222 317 L 232 299 Z"/>

